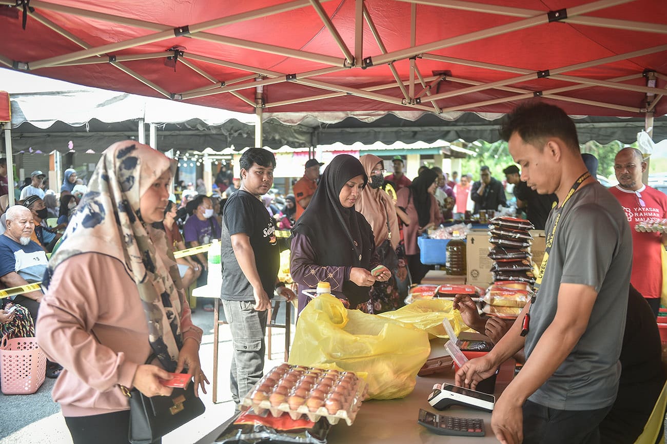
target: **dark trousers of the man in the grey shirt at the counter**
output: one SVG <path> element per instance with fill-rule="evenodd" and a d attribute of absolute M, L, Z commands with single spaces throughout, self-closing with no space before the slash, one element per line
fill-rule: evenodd
<path fill-rule="evenodd" d="M 600 444 L 598 425 L 611 409 L 558 410 L 526 401 L 523 444 Z"/>

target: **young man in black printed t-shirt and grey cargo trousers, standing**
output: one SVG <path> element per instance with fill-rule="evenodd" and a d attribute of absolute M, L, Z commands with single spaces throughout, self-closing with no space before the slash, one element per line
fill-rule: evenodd
<path fill-rule="evenodd" d="M 275 222 L 259 196 L 273 184 L 275 157 L 250 148 L 239 160 L 241 188 L 223 209 L 221 254 L 222 300 L 231 329 L 231 397 L 237 410 L 241 399 L 262 377 L 264 333 L 274 289 L 291 300 L 294 293 L 277 282 L 280 251 Z"/>

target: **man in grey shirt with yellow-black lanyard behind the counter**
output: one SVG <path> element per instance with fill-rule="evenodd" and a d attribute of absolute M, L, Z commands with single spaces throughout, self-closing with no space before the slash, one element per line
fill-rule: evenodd
<path fill-rule="evenodd" d="M 501 134 L 521 179 L 540 194 L 555 193 L 559 204 L 546 222 L 548 255 L 536 298 L 492 352 L 456 373 L 456 383 L 476 387 L 525 347 L 526 364 L 496 401 L 496 437 L 511 444 L 596 444 L 621 371 L 630 227 L 614 196 L 588 174 L 574 123 L 562 109 L 520 106 Z"/>

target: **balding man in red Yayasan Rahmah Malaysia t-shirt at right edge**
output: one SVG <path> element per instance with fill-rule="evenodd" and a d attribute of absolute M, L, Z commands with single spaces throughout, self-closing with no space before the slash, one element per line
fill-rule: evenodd
<path fill-rule="evenodd" d="M 628 216 L 632 228 L 632 276 L 630 282 L 646 298 L 658 316 L 662 293 L 662 252 L 667 236 L 660 233 L 640 233 L 634 227 L 639 222 L 667 218 L 667 196 L 642 184 L 646 162 L 636 148 L 623 148 L 616 154 L 614 170 L 618 185 L 610 188 Z"/>

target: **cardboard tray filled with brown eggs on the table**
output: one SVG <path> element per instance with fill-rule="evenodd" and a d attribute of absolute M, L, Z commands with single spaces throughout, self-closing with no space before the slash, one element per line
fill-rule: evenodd
<path fill-rule="evenodd" d="M 275 379 L 278 375 L 282 377 Z M 305 383 L 306 377 L 313 375 L 317 375 L 313 382 Z M 322 382 L 325 379 L 330 381 L 330 386 Z M 304 396 L 295 393 L 307 385 L 310 385 L 311 389 L 307 390 Z M 285 389 L 280 389 L 281 386 Z M 281 391 L 287 393 L 280 393 Z M 321 399 L 317 395 L 311 396 L 317 391 Z M 301 394 L 303 393 L 302 391 Z M 257 415 L 269 411 L 273 417 L 279 417 L 286 412 L 293 420 L 305 415 L 313 422 L 326 417 L 331 425 L 338 424 L 341 419 L 352 425 L 367 393 L 366 382 L 353 372 L 281 364 L 255 384 L 250 393 L 241 400 L 241 405 L 252 409 Z"/>

